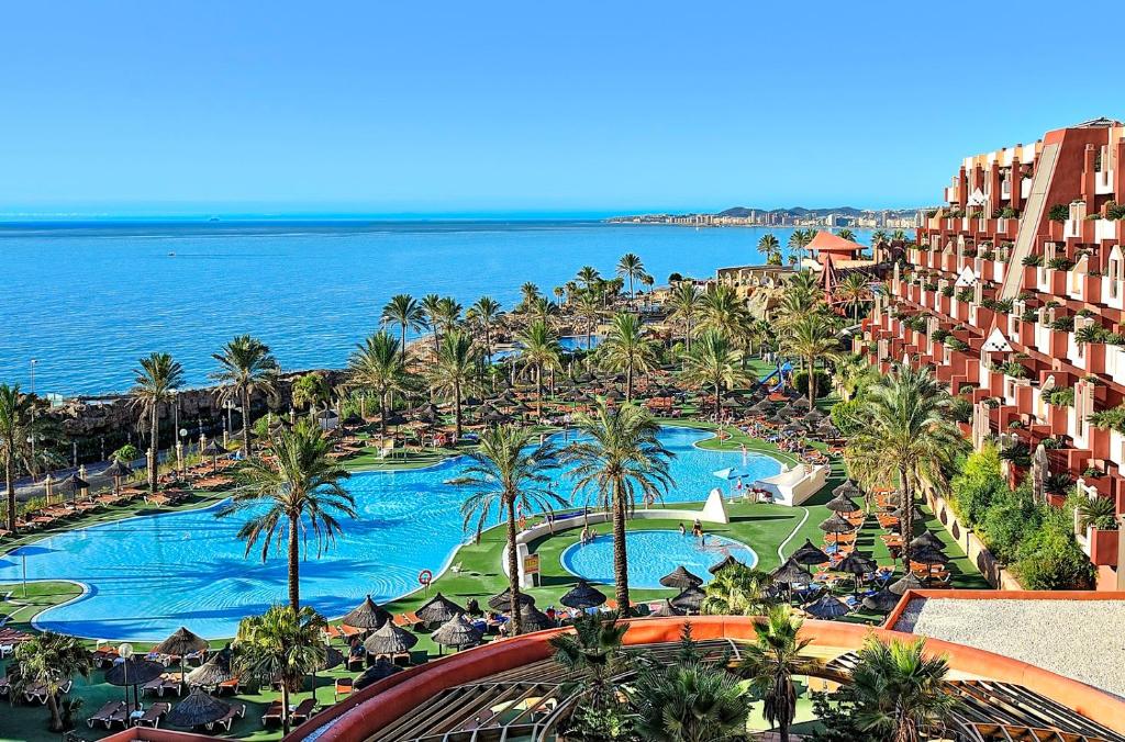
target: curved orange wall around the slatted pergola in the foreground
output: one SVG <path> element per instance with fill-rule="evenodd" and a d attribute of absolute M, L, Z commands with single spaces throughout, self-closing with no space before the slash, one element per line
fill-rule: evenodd
<path fill-rule="evenodd" d="M 632 619 L 626 633 L 626 644 L 677 641 L 684 621 L 685 618 Z M 687 621 L 692 624 L 695 640 L 748 640 L 755 636 L 752 617 L 693 616 Z M 287 740 L 300 740 L 328 720 L 339 721 L 320 736 L 322 742 L 366 740 L 408 709 L 447 688 L 547 659 L 552 654 L 548 640 L 559 631 L 549 630 L 492 642 L 399 672 L 317 714 L 310 722 L 295 730 Z M 871 634 L 883 640 L 918 639 L 914 634 L 830 621 L 806 621 L 801 627 L 802 639 L 811 640 L 821 649 L 839 650 L 842 653 L 858 649 Z M 954 670 L 1019 684 L 1125 733 L 1125 702 L 1096 688 L 1026 662 L 962 644 L 928 639 L 926 646 L 930 654 L 946 655 Z"/>

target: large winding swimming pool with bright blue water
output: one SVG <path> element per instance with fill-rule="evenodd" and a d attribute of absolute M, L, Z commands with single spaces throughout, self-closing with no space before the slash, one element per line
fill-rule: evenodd
<path fill-rule="evenodd" d="M 704 451 L 693 444 L 710 434 L 667 427 L 660 433 L 676 452 L 675 488 L 668 503 L 703 500 L 716 470 L 737 467 L 748 481 L 781 471 L 773 459 Z M 466 492 L 444 482 L 465 463 L 453 459 L 416 471 L 358 473 L 348 480 L 360 517 L 344 523 L 335 546 L 300 568 L 302 600 L 327 616 L 350 610 L 366 594 L 385 601 L 417 587 L 420 570 L 436 573 L 465 540 L 459 508 Z M 558 490 L 580 505 L 565 473 Z M 244 556 L 235 539 L 238 519 L 217 521 L 218 506 L 71 531 L 27 548 L 30 580 L 80 582 L 86 595 L 39 616 L 43 628 L 107 640 L 159 640 L 186 625 L 208 637 L 232 636 L 238 619 L 286 596 L 281 556 L 264 563 Z M 18 582 L 25 556 L 0 556 L 0 582 Z M 498 567 L 498 565 L 497 565 Z"/>

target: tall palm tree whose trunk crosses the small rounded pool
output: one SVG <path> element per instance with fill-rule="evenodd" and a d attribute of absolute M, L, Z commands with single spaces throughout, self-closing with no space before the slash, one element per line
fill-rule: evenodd
<path fill-rule="evenodd" d="M 575 491 L 593 491 L 598 504 L 613 510 L 613 574 L 618 609 L 629 610 L 629 558 L 626 519 L 645 500 L 662 498 L 673 485 L 668 462 L 675 456 L 657 434 L 660 426 L 644 407 L 626 402 L 611 408 L 604 399 L 593 414 L 577 416 L 582 438 L 564 451 L 575 464 Z"/>

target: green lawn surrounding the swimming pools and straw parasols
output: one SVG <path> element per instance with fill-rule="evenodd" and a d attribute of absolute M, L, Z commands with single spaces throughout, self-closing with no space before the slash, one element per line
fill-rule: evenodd
<path fill-rule="evenodd" d="M 683 420 L 676 420 L 673 424 L 691 425 L 693 427 L 701 428 L 713 427 L 700 423 Z M 738 432 L 730 431 L 730 433 L 731 436 L 726 441 L 720 442 L 717 438 L 712 438 L 703 442 L 701 445 L 704 447 L 737 450 L 739 444 L 745 444 L 748 450 L 767 453 L 790 463 L 793 462 L 792 456 L 780 453 L 776 447 L 771 444 L 749 438 Z M 439 452 L 434 456 L 434 461 L 440 460 L 441 455 L 444 453 L 447 452 Z M 364 463 L 363 456 L 359 456 L 348 463 L 349 465 L 368 465 L 370 462 Z M 433 463 L 433 461 L 430 463 Z M 396 459 L 393 464 L 408 467 L 426 465 L 424 461 L 418 459 Z M 830 515 L 824 504 L 831 497 L 831 488 L 843 480 L 843 464 L 837 461 L 834 463 L 832 476 L 828 485 L 804 507 L 789 508 L 784 506 L 763 504 L 750 505 L 747 503 L 729 505 L 728 512 L 731 516 L 731 522 L 724 526 L 709 525 L 708 531 L 726 535 L 752 545 L 758 554 L 760 567 L 765 569 L 773 569 L 777 567 L 781 561 L 777 552 L 783 542 L 785 542 L 785 546 L 782 549 L 782 554 L 786 556 L 799 548 L 806 537 L 811 539 L 813 543 L 821 543 L 822 534 L 817 526 L 821 521 Z M 199 496 L 188 506 L 198 507 L 201 504 L 214 501 L 215 497 L 216 496 Z M 683 506 L 677 505 L 677 507 Z M 89 522 L 92 523 L 110 517 L 126 517 L 128 515 L 151 512 L 153 509 L 154 508 L 148 508 L 143 505 L 116 508 L 114 512 L 105 512 L 96 517 L 91 517 L 89 518 Z M 950 569 L 954 574 L 954 586 L 964 588 L 988 587 L 984 579 L 976 572 L 964 555 L 961 554 L 957 546 L 953 543 L 953 540 L 947 536 L 943 528 L 939 527 L 933 516 L 929 513 L 926 515 L 926 521 L 918 525 L 919 531 L 921 527 L 929 527 L 932 531 L 935 531 L 950 546 L 947 553 L 951 556 L 956 554 L 950 564 Z M 644 527 L 646 528 L 675 528 L 677 525 L 678 521 L 672 519 L 644 522 Z M 598 533 L 605 533 L 609 530 L 609 525 L 598 524 L 593 528 Z M 861 551 L 872 553 L 881 563 L 890 563 L 890 555 L 886 552 L 885 546 L 883 546 L 882 541 L 879 540 L 878 535 L 878 523 L 872 519 L 861 531 L 857 541 L 858 548 Z M 536 597 L 537 604 L 540 607 L 546 608 L 550 605 L 558 606 L 559 597 L 573 587 L 574 578 L 561 568 L 559 563 L 559 555 L 564 549 L 574 543 L 577 539 L 578 531 L 575 530 L 564 532 L 555 536 L 544 537 L 531 544 L 531 548 L 542 558 L 541 564 L 543 573 L 541 578 L 541 586 L 529 590 L 529 592 Z M 432 596 L 434 592 L 440 590 L 458 603 L 464 604 L 471 597 L 477 598 L 480 605 L 484 605 L 488 597 L 500 592 L 506 587 L 506 578 L 503 576 L 500 563 L 501 552 L 504 545 L 503 540 L 503 528 L 495 527 L 483 534 L 479 544 L 468 544 L 462 546 L 452 560 L 454 564 L 460 565 L 460 571 L 447 571 L 441 574 L 431 587 L 429 595 Z M 74 597 L 78 591 L 79 588 L 70 583 L 32 583 L 28 587 L 28 596 L 25 599 L 22 597 L 21 586 L 0 586 L 0 596 L 9 592 L 11 594 L 10 597 L 0 600 L 0 612 L 11 616 L 10 625 L 19 628 L 27 628 L 29 627 L 28 622 L 35 614 L 51 605 L 69 600 Z M 603 588 L 603 591 L 611 594 L 612 588 L 605 587 Z M 631 597 L 637 601 L 672 597 L 673 595 L 675 595 L 674 590 L 631 591 Z M 417 608 L 426 598 L 426 594 L 417 592 L 396 600 L 387 607 L 394 613 L 408 612 Z M 852 621 L 876 622 L 880 621 L 882 616 L 866 616 L 857 614 L 848 618 Z M 137 645 L 137 649 L 143 650 L 146 648 Z M 414 651 L 415 661 L 424 662 L 429 655 L 436 653 L 438 648 L 430 640 L 429 635 L 422 634 L 421 641 Z M 332 690 L 334 678 L 344 676 L 352 677 L 354 675 L 357 673 L 348 672 L 341 668 L 321 676 L 316 687 L 317 699 L 322 704 L 331 704 L 333 702 Z M 91 713 L 97 711 L 97 708 L 100 707 L 100 705 L 106 700 L 115 699 L 122 695 L 122 689 L 108 686 L 101 682 L 100 679 L 101 673 L 94 672 L 90 684 L 81 680 L 75 682 L 72 694 L 81 697 L 84 702 L 83 708 L 79 712 L 79 717 L 81 720 L 84 720 Z M 306 686 L 306 693 L 310 690 L 312 686 L 309 684 Z M 238 700 L 246 703 L 249 706 L 248 714 L 245 720 L 241 720 L 234 725 L 231 735 L 251 740 L 278 739 L 280 736 L 279 730 L 262 730 L 260 722 L 261 712 L 264 708 L 264 705 L 274 697 L 276 694 L 248 694 L 240 696 Z M 172 700 L 174 702 L 174 698 Z M 36 742 L 57 740 L 57 735 L 48 734 L 46 732 L 47 712 L 44 707 L 32 707 L 22 704 L 16 704 L 10 707 L 6 706 L 3 711 L 4 713 L 0 714 L 0 740 L 30 740 Z M 82 724 L 80 732 L 82 736 L 88 739 L 96 739 L 105 734 L 105 732 L 100 730 L 88 730 L 84 723 Z"/>

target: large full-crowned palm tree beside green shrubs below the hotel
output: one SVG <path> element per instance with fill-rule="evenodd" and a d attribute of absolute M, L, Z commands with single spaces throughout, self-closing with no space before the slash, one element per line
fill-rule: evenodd
<path fill-rule="evenodd" d="M 929 369 L 901 367 L 867 387 L 864 400 L 844 458 L 868 486 L 898 481 L 902 563 L 909 568 L 915 491 L 945 487 L 945 472 L 968 444 L 951 418 L 950 392 Z"/>

